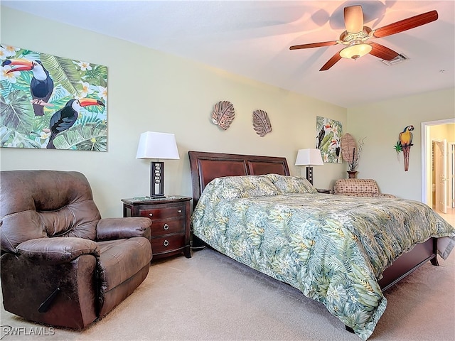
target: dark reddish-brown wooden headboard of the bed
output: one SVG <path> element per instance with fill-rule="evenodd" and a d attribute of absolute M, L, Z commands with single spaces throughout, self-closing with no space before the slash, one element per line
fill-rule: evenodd
<path fill-rule="evenodd" d="M 188 151 L 188 156 L 190 157 L 193 183 L 193 207 L 196 207 L 205 185 L 215 178 L 269 173 L 289 175 L 286 158 L 277 156 L 208 153 L 205 151 Z"/>

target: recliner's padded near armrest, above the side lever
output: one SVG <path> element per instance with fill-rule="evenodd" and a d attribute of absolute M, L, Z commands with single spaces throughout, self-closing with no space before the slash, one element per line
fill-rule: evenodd
<path fill-rule="evenodd" d="M 53 237 L 29 239 L 17 246 L 18 254 L 31 261 L 46 264 L 63 264 L 82 254 L 100 256 L 98 244 L 90 239 L 76 237 Z"/>

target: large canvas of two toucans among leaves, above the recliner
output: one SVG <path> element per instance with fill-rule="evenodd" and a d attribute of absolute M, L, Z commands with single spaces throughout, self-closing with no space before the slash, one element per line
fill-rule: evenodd
<path fill-rule="evenodd" d="M 0 146 L 107 151 L 107 67 L 0 44 Z"/>

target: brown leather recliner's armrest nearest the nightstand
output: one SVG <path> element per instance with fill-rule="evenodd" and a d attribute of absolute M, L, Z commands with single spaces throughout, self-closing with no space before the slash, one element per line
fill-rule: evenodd
<path fill-rule="evenodd" d="M 97 240 L 132 237 L 150 239 L 151 220 L 147 217 L 103 218 L 97 224 Z"/>

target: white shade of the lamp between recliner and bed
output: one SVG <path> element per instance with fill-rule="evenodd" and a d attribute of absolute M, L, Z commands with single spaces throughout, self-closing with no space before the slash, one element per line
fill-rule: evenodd
<path fill-rule="evenodd" d="M 146 131 L 141 134 L 136 158 L 178 159 L 176 136 Z"/>

